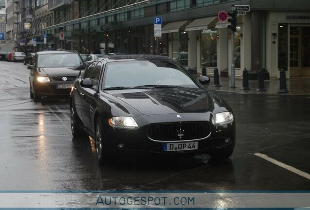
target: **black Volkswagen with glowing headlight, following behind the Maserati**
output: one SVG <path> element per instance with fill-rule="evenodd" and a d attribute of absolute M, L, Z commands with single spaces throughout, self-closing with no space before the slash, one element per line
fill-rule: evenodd
<path fill-rule="evenodd" d="M 70 94 L 73 82 L 85 70 L 82 57 L 75 51 L 42 51 L 35 54 L 30 70 L 30 98 Z"/>

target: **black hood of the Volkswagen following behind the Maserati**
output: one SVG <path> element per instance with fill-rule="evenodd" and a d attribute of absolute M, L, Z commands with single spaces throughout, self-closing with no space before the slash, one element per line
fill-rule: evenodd
<path fill-rule="evenodd" d="M 83 67 L 38 68 L 41 76 L 77 76 Z"/>

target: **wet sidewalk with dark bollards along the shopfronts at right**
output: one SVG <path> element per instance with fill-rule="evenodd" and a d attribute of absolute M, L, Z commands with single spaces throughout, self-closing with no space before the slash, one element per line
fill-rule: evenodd
<path fill-rule="evenodd" d="M 209 76 L 210 77 L 210 76 Z M 198 80 L 199 76 L 197 75 Z M 214 78 L 210 77 L 211 82 L 208 85 L 204 85 L 203 87 L 207 88 L 208 90 L 217 90 L 217 91 L 230 91 L 236 93 L 252 93 L 252 94 L 283 94 L 283 95 L 310 95 L 310 78 L 293 78 L 286 80 L 287 93 L 278 93 L 280 87 L 280 80 L 278 79 L 271 79 L 271 80 L 264 80 L 264 86 L 267 91 L 256 91 L 258 88 L 258 80 L 249 81 L 249 88 L 251 90 L 241 90 L 242 88 L 242 79 L 235 78 L 235 88 L 231 87 L 231 78 L 230 77 L 220 77 L 220 85 L 222 87 L 213 87 L 214 85 Z"/>

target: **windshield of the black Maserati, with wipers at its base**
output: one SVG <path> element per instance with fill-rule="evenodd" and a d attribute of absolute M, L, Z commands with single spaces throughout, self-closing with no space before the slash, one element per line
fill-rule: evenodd
<path fill-rule="evenodd" d="M 107 63 L 103 84 L 103 89 L 198 87 L 184 68 L 167 60 Z"/>

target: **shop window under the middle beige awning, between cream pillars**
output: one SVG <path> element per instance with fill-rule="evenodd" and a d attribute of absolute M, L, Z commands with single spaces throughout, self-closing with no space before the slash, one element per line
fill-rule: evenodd
<path fill-rule="evenodd" d="M 214 29 L 202 30 L 201 32 L 201 66 L 216 67 L 217 53 L 216 53 L 216 35 L 217 31 Z"/>

